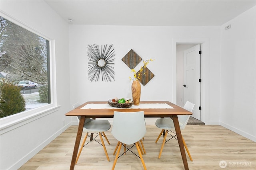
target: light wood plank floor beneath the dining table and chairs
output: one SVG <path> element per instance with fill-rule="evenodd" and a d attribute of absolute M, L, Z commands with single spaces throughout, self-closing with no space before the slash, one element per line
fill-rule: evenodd
<path fill-rule="evenodd" d="M 20 170 L 69 170 L 77 128 L 77 126 L 69 127 L 26 162 Z M 147 133 L 143 141 L 146 154 L 143 158 L 147 169 L 183 170 L 178 141 L 176 139 L 168 141 L 161 158 L 158 159 L 162 138 L 158 143 L 155 143 L 155 140 L 160 129 L 155 125 L 146 125 L 146 128 Z M 103 147 L 96 142 L 91 142 L 82 150 L 75 170 L 111 170 L 114 161 L 112 154 L 117 141 L 110 131 L 106 132 L 106 135 L 110 141 L 110 145 L 104 141 L 110 162 L 106 159 Z M 187 125 L 182 135 L 194 160 L 191 162 L 187 155 L 190 170 L 220 170 L 222 168 L 219 163 L 222 160 L 227 162 L 224 170 L 256 170 L 256 143 L 220 125 Z M 100 141 L 99 137 L 98 139 Z M 121 156 L 115 168 L 115 170 L 142 169 L 140 159 L 132 152 Z"/>

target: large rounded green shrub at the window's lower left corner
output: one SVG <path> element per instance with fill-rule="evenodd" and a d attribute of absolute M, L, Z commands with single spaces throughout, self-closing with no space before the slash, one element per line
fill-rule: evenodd
<path fill-rule="evenodd" d="M 20 113 L 25 110 L 25 100 L 20 88 L 12 82 L 3 80 L 0 86 L 0 118 Z"/>

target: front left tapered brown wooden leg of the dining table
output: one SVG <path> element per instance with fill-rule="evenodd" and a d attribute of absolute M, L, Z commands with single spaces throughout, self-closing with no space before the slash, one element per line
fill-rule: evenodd
<path fill-rule="evenodd" d="M 72 160 L 70 164 L 70 170 L 74 170 L 74 167 L 76 164 L 76 157 L 77 157 L 77 153 L 78 153 L 78 149 L 79 149 L 79 145 L 80 145 L 80 141 L 83 133 L 84 121 L 85 121 L 85 116 L 81 116 L 79 125 L 78 125 L 77 134 L 76 134 L 76 141 L 75 141 L 74 151 L 73 151 Z"/>

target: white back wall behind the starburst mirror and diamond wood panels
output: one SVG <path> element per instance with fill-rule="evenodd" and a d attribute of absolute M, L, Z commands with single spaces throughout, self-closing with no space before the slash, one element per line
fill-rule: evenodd
<path fill-rule="evenodd" d="M 141 100 L 168 100 L 176 103 L 176 43 L 180 39 L 194 41 L 207 39 L 205 45 L 205 93 L 206 124 L 218 124 L 219 117 L 219 86 L 209 85 L 209 82 L 220 81 L 220 28 L 219 27 L 150 27 L 150 26 L 106 26 L 106 25 L 70 25 L 70 87 L 71 103 L 77 101 L 107 101 L 114 97 L 131 95 L 129 76 L 132 72 L 122 58 L 133 49 L 142 59 L 155 59 L 148 68 L 155 75 L 146 86 L 142 85 Z M 88 44 L 114 44 L 115 81 L 90 82 L 88 80 Z M 210 44 L 210 45 L 209 45 Z M 206 47 L 207 46 L 207 47 Z M 175 51 L 175 53 L 174 53 Z M 207 54 L 207 55 L 206 55 Z M 211 62 L 210 65 L 209 62 Z M 142 63 L 139 64 L 141 66 Z M 138 70 L 138 67 L 135 68 Z M 218 69 L 218 70 L 216 70 Z M 175 73 L 174 73 L 175 72 Z M 175 76 L 175 77 L 174 77 Z M 146 119 L 149 123 L 149 119 Z M 150 119 L 152 124 L 155 123 Z"/>

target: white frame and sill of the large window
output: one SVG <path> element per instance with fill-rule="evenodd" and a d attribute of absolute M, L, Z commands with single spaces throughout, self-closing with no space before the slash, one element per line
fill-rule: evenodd
<path fill-rule="evenodd" d="M 7 117 L 2 117 L 0 119 L 0 134 L 6 133 L 12 129 L 15 129 L 19 126 L 22 126 L 28 122 L 34 121 L 35 119 L 39 119 L 40 117 L 46 116 L 50 113 L 53 113 L 58 110 L 60 106 L 56 105 L 56 62 L 55 62 L 55 40 L 47 37 L 46 35 L 40 33 L 36 29 L 26 25 L 22 21 L 16 20 L 15 18 L 5 14 L 0 10 L 0 15 L 6 20 L 11 21 L 12 23 L 27 29 L 28 31 L 46 39 L 49 43 L 49 47 L 47 47 L 47 53 L 49 54 L 49 58 L 47 59 L 48 64 L 48 93 L 50 104 L 45 106 L 36 107 L 34 109 L 30 109 L 27 111 L 22 111 L 20 113 L 16 113 L 14 115 L 9 115 Z M 47 45 L 48 45 L 47 44 Z M 50 70 L 49 70 L 50 69 Z"/>

